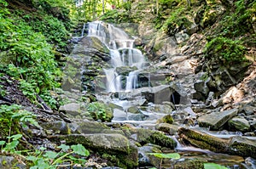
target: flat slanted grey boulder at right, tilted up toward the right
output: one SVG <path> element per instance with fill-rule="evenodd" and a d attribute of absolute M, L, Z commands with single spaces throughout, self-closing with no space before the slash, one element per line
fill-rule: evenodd
<path fill-rule="evenodd" d="M 224 123 L 237 115 L 237 109 L 213 112 L 208 115 L 202 115 L 197 119 L 200 127 L 210 127 L 211 130 L 218 130 Z"/>

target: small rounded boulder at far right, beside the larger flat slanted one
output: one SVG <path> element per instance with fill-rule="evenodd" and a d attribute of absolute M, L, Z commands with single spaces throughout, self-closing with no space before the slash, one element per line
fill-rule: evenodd
<path fill-rule="evenodd" d="M 240 116 L 236 116 L 228 121 L 229 127 L 231 131 L 241 131 L 247 132 L 250 129 L 249 122 Z"/>

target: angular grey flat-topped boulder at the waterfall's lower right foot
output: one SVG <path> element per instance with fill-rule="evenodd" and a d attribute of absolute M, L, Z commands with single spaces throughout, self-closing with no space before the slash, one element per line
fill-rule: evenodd
<path fill-rule="evenodd" d="M 148 91 L 143 92 L 143 96 L 148 102 L 152 102 L 154 104 L 161 104 L 162 102 L 169 101 L 171 102 L 172 93 L 175 91 L 172 87 L 168 85 L 161 85 L 158 87 L 151 87 Z"/>

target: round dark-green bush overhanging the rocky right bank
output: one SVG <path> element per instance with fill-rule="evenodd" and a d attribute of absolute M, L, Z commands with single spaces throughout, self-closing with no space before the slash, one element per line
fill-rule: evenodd
<path fill-rule="evenodd" d="M 215 37 L 207 42 L 204 50 L 207 59 L 213 59 L 223 64 L 245 61 L 246 48 L 240 41 L 233 41 L 225 37 Z"/>

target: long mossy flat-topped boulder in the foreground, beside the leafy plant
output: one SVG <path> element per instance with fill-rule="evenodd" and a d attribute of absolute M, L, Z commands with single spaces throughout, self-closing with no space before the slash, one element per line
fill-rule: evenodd
<path fill-rule="evenodd" d="M 116 155 L 120 164 L 127 168 L 135 168 L 138 165 L 137 146 L 117 133 L 95 133 L 95 134 L 70 134 L 54 135 L 48 137 L 52 141 L 65 140 L 67 144 L 83 144 L 87 149 L 96 153 Z"/>

